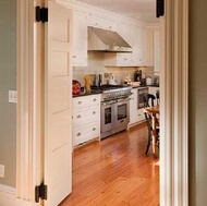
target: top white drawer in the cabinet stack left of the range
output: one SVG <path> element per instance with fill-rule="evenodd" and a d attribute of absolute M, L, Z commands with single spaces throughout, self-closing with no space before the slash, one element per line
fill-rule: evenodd
<path fill-rule="evenodd" d="M 73 98 L 73 109 L 80 109 L 99 104 L 100 104 L 100 95 L 90 95 L 85 97 Z"/>

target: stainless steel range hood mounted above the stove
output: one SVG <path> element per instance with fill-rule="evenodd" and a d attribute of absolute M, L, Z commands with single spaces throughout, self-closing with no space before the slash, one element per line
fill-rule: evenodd
<path fill-rule="evenodd" d="M 88 51 L 132 52 L 132 47 L 117 32 L 88 26 Z"/>

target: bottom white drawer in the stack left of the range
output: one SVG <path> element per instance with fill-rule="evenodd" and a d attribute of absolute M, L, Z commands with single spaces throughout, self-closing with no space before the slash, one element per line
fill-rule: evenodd
<path fill-rule="evenodd" d="M 85 143 L 100 135 L 99 122 L 87 124 L 84 128 L 73 129 L 73 146 Z"/>

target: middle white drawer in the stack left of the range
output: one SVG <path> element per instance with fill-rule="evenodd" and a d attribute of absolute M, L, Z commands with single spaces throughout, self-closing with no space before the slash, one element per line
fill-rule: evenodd
<path fill-rule="evenodd" d="M 74 110 L 73 112 L 73 123 L 74 126 L 87 122 L 93 122 L 98 120 L 100 116 L 100 107 L 95 106 L 87 109 Z"/>

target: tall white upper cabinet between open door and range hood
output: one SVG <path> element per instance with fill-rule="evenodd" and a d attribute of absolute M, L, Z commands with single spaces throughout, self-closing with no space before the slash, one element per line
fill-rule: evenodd
<path fill-rule="evenodd" d="M 87 15 L 73 11 L 73 66 L 87 66 Z"/>

